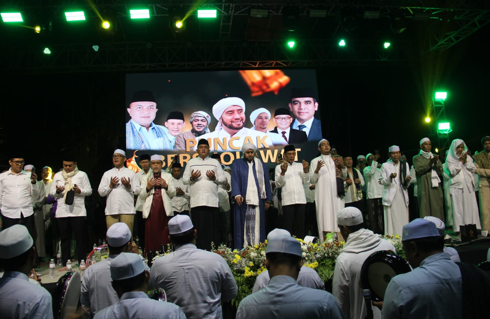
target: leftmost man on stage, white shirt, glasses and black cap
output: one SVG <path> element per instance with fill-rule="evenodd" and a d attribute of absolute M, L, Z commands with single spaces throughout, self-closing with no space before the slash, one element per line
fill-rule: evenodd
<path fill-rule="evenodd" d="M 24 158 L 10 158 L 10 169 L 0 174 L 0 211 L 2 229 L 23 224 L 36 241 L 32 198 L 40 194 L 36 173 L 26 172 Z"/>

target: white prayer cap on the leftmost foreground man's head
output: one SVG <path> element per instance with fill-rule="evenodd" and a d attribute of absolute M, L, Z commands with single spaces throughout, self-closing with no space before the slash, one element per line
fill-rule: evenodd
<path fill-rule="evenodd" d="M 0 232 L 0 258 L 10 259 L 29 250 L 34 241 L 24 225 L 13 225 Z"/>

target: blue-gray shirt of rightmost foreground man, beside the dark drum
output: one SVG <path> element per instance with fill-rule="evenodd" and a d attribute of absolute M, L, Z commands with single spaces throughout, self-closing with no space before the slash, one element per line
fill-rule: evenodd
<path fill-rule="evenodd" d="M 451 319 L 463 317 L 459 266 L 448 254 L 425 258 L 416 269 L 394 276 L 385 292 L 383 318 Z"/>

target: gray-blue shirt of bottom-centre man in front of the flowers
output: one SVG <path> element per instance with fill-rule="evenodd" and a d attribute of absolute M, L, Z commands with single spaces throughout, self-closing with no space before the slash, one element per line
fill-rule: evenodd
<path fill-rule="evenodd" d="M 343 319 L 343 315 L 332 294 L 301 287 L 290 276 L 274 276 L 266 288 L 242 299 L 236 318 Z"/>

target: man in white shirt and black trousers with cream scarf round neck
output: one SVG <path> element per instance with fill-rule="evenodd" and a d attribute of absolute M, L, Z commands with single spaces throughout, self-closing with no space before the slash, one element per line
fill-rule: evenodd
<path fill-rule="evenodd" d="M 85 196 L 92 194 L 92 187 L 85 172 L 78 171 L 74 156 L 65 155 L 63 171 L 54 174 L 49 195 L 56 198 L 56 221 L 61 238 L 61 260 L 63 266 L 58 271 L 66 270 L 66 262 L 71 259 L 70 240 L 72 231 L 75 235 L 78 264 L 85 259 Z"/>

